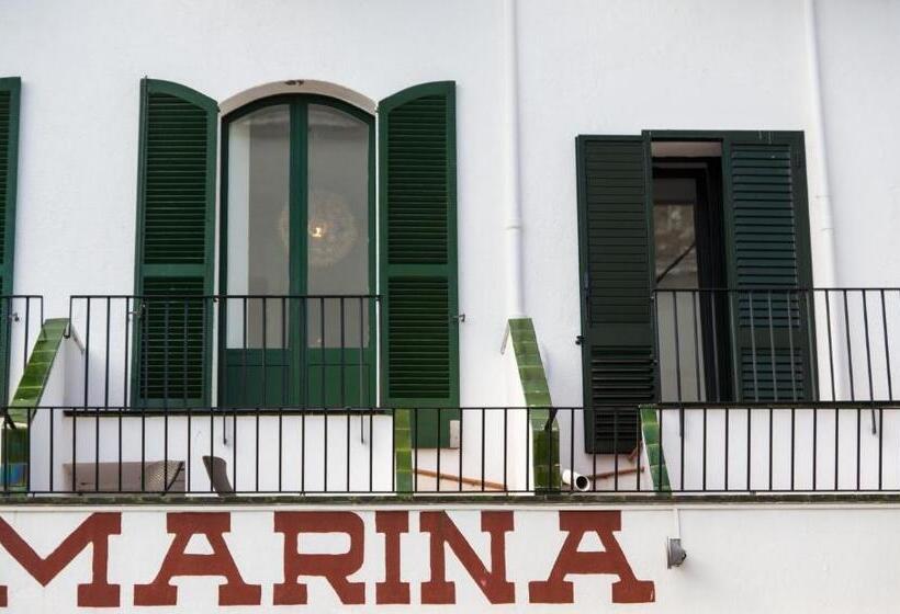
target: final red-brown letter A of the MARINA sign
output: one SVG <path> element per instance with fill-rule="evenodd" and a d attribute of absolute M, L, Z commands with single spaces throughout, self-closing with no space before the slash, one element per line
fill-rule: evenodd
<path fill-rule="evenodd" d="M 572 603 L 572 582 L 565 580 L 569 573 L 611 573 L 619 577 L 612 583 L 612 603 L 650 603 L 654 596 L 653 582 L 638 580 L 628 559 L 625 558 L 619 542 L 612 534 L 621 530 L 622 514 L 619 511 L 560 512 L 560 528 L 569 532 L 563 542 L 556 562 L 547 581 L 528 583 L 531 603 Z M 596 533 L 604 552 L 584 553 L 578 550 L 585 533 Z"/>

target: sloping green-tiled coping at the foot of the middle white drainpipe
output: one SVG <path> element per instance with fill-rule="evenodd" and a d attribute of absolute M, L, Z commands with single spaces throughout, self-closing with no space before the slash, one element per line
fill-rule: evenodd
<path fill-rule="evenodd" d="M 551 421 L 550 386 L 543 371 L 543 361 L 538 349 L 538 336 L 531 318 L 509 320 L 509 340 L 519 371 L 525 405 L 535 408 L 529 411 L 532 470 L 529 486 L 538 491 L 559 491 L 562 485 L 560 474 L 560 429 L 555 418 Z"/>

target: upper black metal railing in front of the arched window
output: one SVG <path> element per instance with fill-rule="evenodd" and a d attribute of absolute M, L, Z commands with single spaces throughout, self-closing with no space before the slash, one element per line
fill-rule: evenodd
<path fill-rule="evenodd" d="M 372 407 L 379 297 L 74 296 L 80 405 Z"/>

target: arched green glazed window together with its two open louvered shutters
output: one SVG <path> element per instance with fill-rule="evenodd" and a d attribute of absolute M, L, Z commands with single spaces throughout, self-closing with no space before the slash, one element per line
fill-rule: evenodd
<path fill-rule="evenodd" d="M 447 445 L 459 418 L 455 86 L 381 101 L 378 130 L 346 88 L 328 90 L 341 100 L 282 91 L 232 106 L 220 158 L 214 100 L 142 81 L 133 405 L 413 407 L 417 444 Z"/>

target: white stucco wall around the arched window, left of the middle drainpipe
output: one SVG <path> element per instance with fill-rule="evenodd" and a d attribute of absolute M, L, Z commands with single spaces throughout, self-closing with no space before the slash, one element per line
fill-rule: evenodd
<path fill-rule="evenodd" d="M 384 99 L 455 80 L 463 405 L 503 405 L 499 49 L 494 2 L 4 2 L 0 73 L 22 78 L 16 292 L 134 291 L 138 84 L 216 100 L 322 79 Z M 462 43 L 464 39 L 464 44 Z M 37 52 L 37 49 L 42 49 Z"/>

